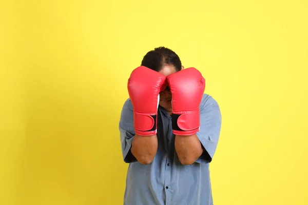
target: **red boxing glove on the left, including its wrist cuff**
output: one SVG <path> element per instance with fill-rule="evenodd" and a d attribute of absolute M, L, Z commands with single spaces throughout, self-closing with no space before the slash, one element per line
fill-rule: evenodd
<path fill-rule="evenodd" d="M 157 134 L 159 93 L 166 87 L 166 76 L 140 66 L 128 79 L 127 89 L 133 107 L 133 126 L 136 134 Z"/>

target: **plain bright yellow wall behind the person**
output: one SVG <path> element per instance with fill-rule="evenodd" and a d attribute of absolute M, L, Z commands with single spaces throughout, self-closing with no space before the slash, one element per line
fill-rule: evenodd
<path fill-rule="evenodd" d="M 0 204 L 123 204 L 127 79 L 158 46 L 198 68 L 221 107 L 215 205 L 308 204 L 307 8 L 2 1 Z"/>

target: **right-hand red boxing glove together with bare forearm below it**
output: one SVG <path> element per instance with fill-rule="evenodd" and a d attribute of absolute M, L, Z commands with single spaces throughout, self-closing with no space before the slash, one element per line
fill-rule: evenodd
<path fill-rule="evenodd" d="M 172 132 L 175 149 L 183 165 L 194 163 L 203 153 L 196 133 L 200 130 L 200 103 L 205 79 L 196 68 L 187 68 L 167 76 L 172 93 Z"/>

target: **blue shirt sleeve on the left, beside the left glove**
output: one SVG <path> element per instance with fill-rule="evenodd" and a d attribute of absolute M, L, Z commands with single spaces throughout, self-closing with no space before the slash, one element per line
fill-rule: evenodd
<path fill-rule="evenodd" d="M 130 151 L 131 142 L 135 135 L 133 128 L 133 111 L 130 99 L 127 99 L 122 108 L 120 122 L 120 140 L 123 159 L 126 163 L 131 163 L 137 161 Z"/>

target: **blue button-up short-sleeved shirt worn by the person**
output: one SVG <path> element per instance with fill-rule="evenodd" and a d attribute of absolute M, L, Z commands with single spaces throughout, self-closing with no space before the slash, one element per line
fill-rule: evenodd
<path fill-rule="evenodd" d="M 119 123 L 123 159 L 129 163 L 124 205 L 213 205 L 209 162 L 213 159 L 221 128 L 216 100 L 204 94 L 197 136 L 205 152 L 192 165 L 182 165 L 175 150 L 171 116 L 158 108 L 158 150 L 152 163 L 142 165 L 131 154 L 135 135 L 130 99 L 124 103 Z"/>

